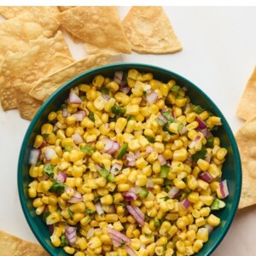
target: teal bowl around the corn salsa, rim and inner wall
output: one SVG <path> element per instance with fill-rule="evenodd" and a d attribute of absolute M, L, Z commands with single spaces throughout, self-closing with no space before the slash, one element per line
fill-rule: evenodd
<path fill-rule="evenodd" d="M 212 100 L 195 84 L 184 79 L 180 75 L 173 73 L 169 70 L 137 63 L 119 63 L 108 65 L 104 67 L 98 67 L 88 72 L 80 74 L 78 77 L 70 80 L 64 84 L 59 90 L 49 97 L 44 102 L 44 105 L 38 110 L 38 113 L 32 119 L 29 125 L 26 136 L 20 148 L 20 158 L 18 165 L 18 190 L 20 195 L 20 204 L 26 217 L 26 221 L 29 224 L 33 234 L 37 237 L 38 241 L 44 247 L 44 249 L 50 255 L 64 256 L 67 255 L 62 248 L 54 247 L 49 240 L 49 230 L 41 217 L 38 217 L 35 213 L 35 209 L 32 206 L 32 200 L 28 196 L 28 184 L 32 181 L 29 176 L 29 164 L 28 158 L 30 150 L 36 135 L 40 132 L 40 127 L 47 122 L 47 116 L 51 111 L 56 111 L 61 107 L 61 103 L 67 99 L 69 90 L 78 84 L 89 83 L 96 74 L 102 74 L 103 76 L 113 76 L 113 73 L 117 70 L 128 71 L 131 68 L 136 68 L 141 72 L 154 73 L 155 79 L 168 81 L 175 79 L 177 84 L 186 86 L 188 88 L 187 95 L 190 97 L 191 102 L 201 105 L 202 108 L 218 115 L 223 122 L 223 125 L 218 128 L 218 137 L 222 142 L 222 146 L 227 148 L 228 154 L 223 166 L 223 177 L 228 180 L 230 195 L 225 199 L 226 207 L 218 211 L 216 215 L 221 218 L 221 224 L 212 231 L 209 236 L 209 241 L 204 244 L 201 251 L 195 255 L 211 255 L 218 244 L 223 240 L 227 231 L 230 229 L 230 225 L 236 215 L 240 194 L 241 194 L 241 160 L 236 146 L 236 140 L 230 129 L 230 125 L 224 118 L 224 115 L 220 112 L 218 107 L 212 102 Z"/>

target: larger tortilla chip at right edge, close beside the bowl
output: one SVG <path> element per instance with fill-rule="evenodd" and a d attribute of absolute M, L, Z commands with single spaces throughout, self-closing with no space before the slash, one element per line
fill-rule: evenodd
<path fill-rule="evenodd" d="M 242 185 L 238 208 L 256 204 L 256 117 L 247 120 L 236 133 L 241 155 Z"/>

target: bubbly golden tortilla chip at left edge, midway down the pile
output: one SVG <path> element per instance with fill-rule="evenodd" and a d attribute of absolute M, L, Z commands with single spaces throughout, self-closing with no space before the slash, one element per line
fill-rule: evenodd
<path fill-rule="evenodd" d="M 57 32 L 55 38 L 40 37 L 30 41 L 30 49 L 24 53 L 8 52 L 0 73 L 3 110 L 17 108 L 15 84 L 32 84 L 71 63 L 73 58 L 61 32 Z"/>

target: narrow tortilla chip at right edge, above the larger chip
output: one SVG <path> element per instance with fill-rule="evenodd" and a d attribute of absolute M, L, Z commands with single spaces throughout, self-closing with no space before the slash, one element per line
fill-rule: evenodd
<path fill-rule="evenodd" d="M 237 108 L 237 115 L 243 119 L 252 119 L 256 114 L 256 67 L 253 70 L 253 73 L 250 79 L 247 81 L 247 85 L 241 100 Z"/>

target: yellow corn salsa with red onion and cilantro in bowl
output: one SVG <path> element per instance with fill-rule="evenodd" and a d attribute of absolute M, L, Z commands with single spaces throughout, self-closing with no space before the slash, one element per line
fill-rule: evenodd
<path fill-rule="evenodd" d="M 221 119 L 136 69 L 73 87 L 35 137 L 28 194 L 67 254 L 193 255 L 229 195 Z"/>

